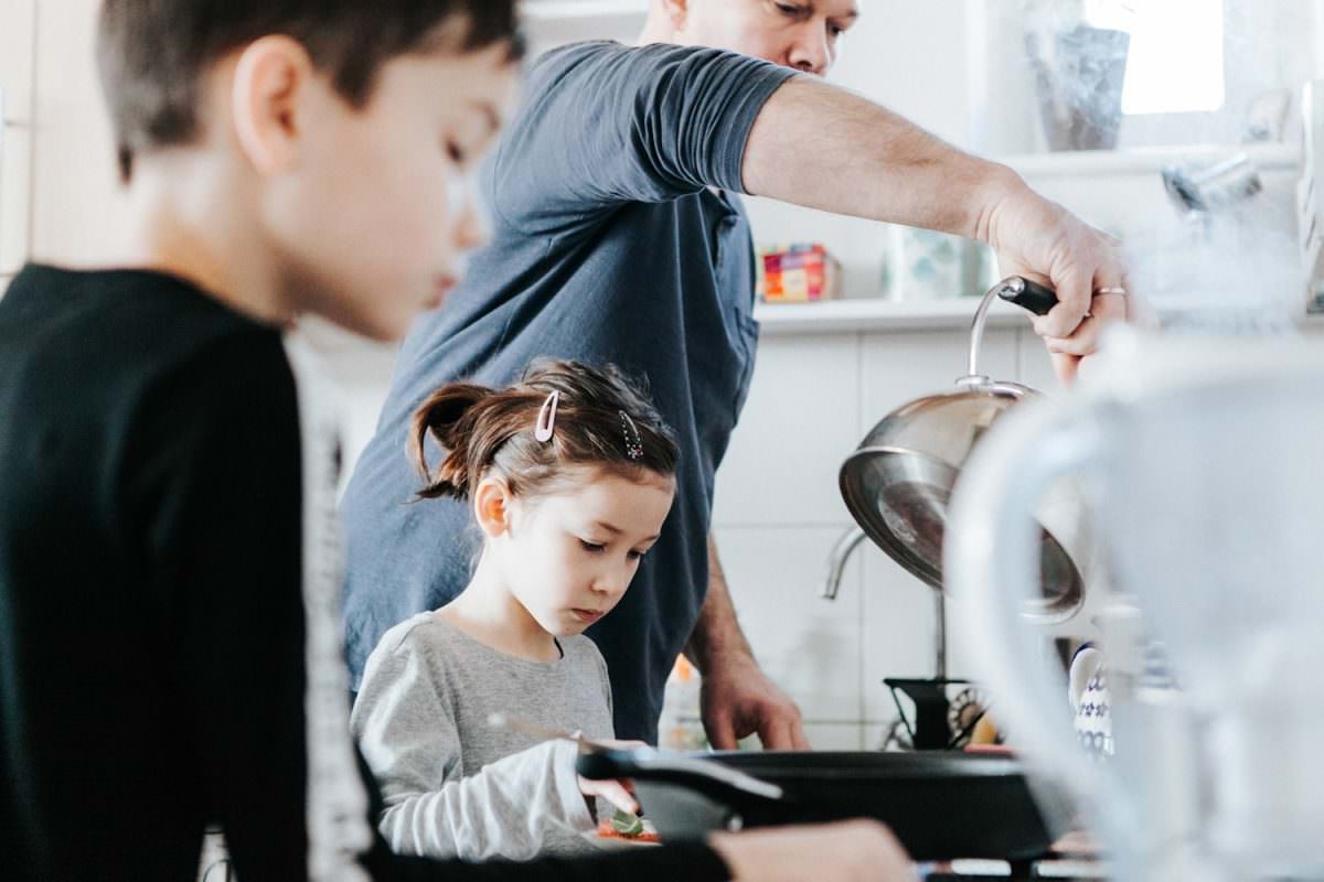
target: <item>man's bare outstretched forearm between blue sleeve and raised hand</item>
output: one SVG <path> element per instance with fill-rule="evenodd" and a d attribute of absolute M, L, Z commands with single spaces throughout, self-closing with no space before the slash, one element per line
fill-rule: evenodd
<path fill-rule="evenodd" d="M 989 242 L 992 213 L 1025 189 L 1012 169 L 810 77 L 784 83 L 745 144 L 747 192 Z"/>

